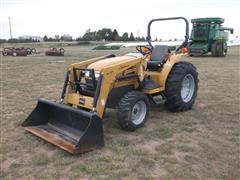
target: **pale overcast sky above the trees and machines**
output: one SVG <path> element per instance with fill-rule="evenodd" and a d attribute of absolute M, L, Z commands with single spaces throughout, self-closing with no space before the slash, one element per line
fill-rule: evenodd
<path fill-rule="evenodd" d="M 224 26 L 240 35 L 240 0 L 0 0 L 0 38 L 10 38 L 11 17 L 14 38 L 21 35 L 54 37 L 82 36 L 87 29 L 116 28 L 120 35 L 133 32 L 145 36 L 153 18 L 184 16 L 223 17 Z M 181 38 L 184 22 L 159 23 L 153 37 Z"/>

